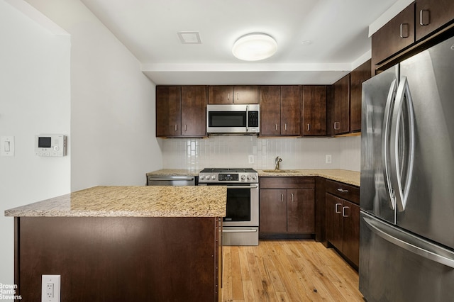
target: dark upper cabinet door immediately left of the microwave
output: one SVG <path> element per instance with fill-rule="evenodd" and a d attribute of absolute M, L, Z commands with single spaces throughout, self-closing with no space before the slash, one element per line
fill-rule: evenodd
<path fill-rule="evenodd" d="M 206 87 L 182 86 L 182 135 L 206 136 Z"/>

